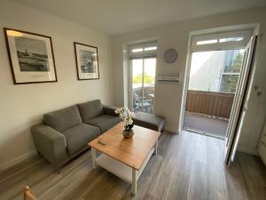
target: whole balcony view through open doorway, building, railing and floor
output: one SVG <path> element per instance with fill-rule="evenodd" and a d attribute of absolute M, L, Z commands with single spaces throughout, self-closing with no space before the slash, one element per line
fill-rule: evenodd
<path fill-rule="evenodd" d="M 244 52 L 192 52 L 185 129 L 225 138 Z"/>

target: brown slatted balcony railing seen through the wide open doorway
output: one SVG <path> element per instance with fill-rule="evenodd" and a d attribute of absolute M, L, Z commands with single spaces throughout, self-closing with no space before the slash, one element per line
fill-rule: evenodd
<path fill-rule="evenodd" d="M 188 91 L 186 111 L 229 119 L 234 93 Z"/>

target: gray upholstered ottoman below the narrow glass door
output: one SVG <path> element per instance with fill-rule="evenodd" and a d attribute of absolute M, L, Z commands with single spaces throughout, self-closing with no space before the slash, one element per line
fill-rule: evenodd
<path fill-rule="evenodd" d="M 165 118 L 154 114 L 137 112 L 133 117 L 133 123 L 153 131 L 161 132 L 165 124 Z"/>

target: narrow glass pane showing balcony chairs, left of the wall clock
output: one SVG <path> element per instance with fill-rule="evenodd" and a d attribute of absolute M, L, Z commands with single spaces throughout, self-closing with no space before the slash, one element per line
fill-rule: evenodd
<path fill-rule="evenodd" d="M 134 112 L 153 113 L 156 58 L 132 59 L 131 107 Z"/>

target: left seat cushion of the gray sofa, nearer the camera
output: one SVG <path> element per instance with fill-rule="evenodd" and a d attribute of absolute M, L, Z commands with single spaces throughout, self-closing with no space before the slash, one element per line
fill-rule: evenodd
<path fill-rule="evenodd" d="M 86 147 L 91 140 L 100 135 L 98 127 L 90 124 L 78 124 L 62 132 L 66 136 L 66 149 L 71 156 Z"/>

